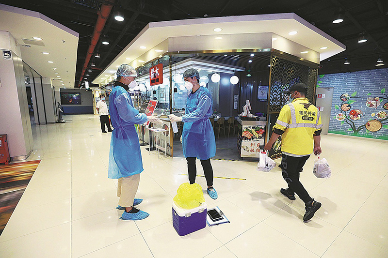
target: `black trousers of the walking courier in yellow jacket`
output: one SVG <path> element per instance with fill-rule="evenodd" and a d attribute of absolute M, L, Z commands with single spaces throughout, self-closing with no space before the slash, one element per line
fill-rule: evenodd
<path fill-rule="evenodd" d="M 303 157 L 292 157 L 282 154 L 282 176 L 288 183 L 290 193 L 296 193 L 305 203 L 312 200 L 305 187 L 299 182 L 299 173 L 310 155 Z"/>

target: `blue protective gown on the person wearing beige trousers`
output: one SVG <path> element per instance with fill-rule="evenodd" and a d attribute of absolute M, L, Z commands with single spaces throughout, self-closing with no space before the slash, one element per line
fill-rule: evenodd
<path fill-rule="evenodd" d="M 128 177 L 143 171 L 139 137 L 135 124 L 147 121 L 146 114 L 139 114 L 133 107 L 129 93 L 121 86 L 114 86 L 109 96 L 109 112 L 114 127 L 109 151 L 109 178 Z"/>

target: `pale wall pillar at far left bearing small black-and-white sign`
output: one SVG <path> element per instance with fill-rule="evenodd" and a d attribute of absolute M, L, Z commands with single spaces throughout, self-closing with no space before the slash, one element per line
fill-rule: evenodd
<path fill-rule="evenodd" d="M 11 160 L 23 160 L 32 151 L 33 139 L 23 61 L 15 42 L 9 32 L 0 31 L 0 134 L 7 135 Z"/>

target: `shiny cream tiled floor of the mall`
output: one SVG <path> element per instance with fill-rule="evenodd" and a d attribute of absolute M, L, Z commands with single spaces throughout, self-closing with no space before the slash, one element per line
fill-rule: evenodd
<path fill-rule="evenodd" d="M 286 186 L 279 168 L 264 173 L 254 162 L 213 160 L 215 176 L 247 179 L 215 179 L 219 198 L 205 196 L 231 223 L 179 237 L 171 204 L 187 182 L 185 160 L 157 160 L 142 147 L 138 207 L 150 216 L 119 220 L 117 182 L 107 179 L 111 134 L 93 115 L 65 119 L 33 128 L 29 160 L 42 161 L 0 236 L 0 257 L 388 257 L 387 142 L 322 137 L 333 175 L 315 178 L 314 157 L 307 161 L 301 181 L 323 205 L 308 223 L 303 202 L 279 193 Z"/>

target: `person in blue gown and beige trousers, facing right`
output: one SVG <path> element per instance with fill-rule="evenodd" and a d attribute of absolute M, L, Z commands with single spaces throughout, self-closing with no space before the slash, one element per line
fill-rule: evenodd
<path fill-rule="evenodd" d="M 146 121 L 153 123 L 162 121 L 154 116 L 147 117 L 146 114 L 140 114 L 133 107 L 128 90 L 137 85 L 136 70 L 128 64 L 122 64 L 116 74 L 117 80 L 109 96 L 109 111 L 114 130 L 109 152 L 108 177 L 118 179 L 117 197 L 120 199 L 116 209 L 124 210 L 120 219 L 141 220 L 149 214 L 134 207 L 143 201 L 135 198 L 140 173 L 143 171 L 143 162 L 139 137 L 134 125 Z"/>

